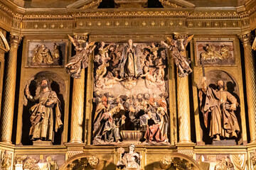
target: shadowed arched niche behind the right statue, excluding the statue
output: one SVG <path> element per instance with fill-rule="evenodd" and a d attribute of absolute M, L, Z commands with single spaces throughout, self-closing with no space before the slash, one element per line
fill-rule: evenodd
<path fill-rule="evenodd" d="M 202 82 L 203 76 L 200 77 L 198 79 L 198 90 L 201 89 L 201 82 Z M 238 136 L 238 140 L 236 140 L 236 142 L 238 144 L 242 143 L 242 120 L 241 120 L 241 108 L 240 108 L 240 96 L 239 96 L 239 85 L 238 85 L 238 81 L 236 81 L 236 79 L 233 77 L 232 74 L 225 72 L 223 70 L 220 69 L 213 69 L 210 70 L 208 72 L 206 72 L 206 83 L 210 88 L 213 89 L 217 89 L 217 83 L 219 80 L 223 80 L 225 83 L 225 91 L 228 91 L 230 94 L 232 94 L 233 96 L 235 96 L 235 98 L 237 99 L 239 105 L 235 111 L 235 115 L 238 118 L 238 122 L 239 122 L 239 126 L 240 126 L 240 134 Z M 198 108 L 200 108 L 199 106 L 199 98 L 198 98 Z M 212 140 L 210 139 L 210 137 L 208 135 L 206 135 L 208 133 L 204 123 L 203 123 L 203 113 L 201 113 L 200 109 L 198 109 L 199 111 L 199 119 L 200 119 L 200 126 L 201 126 L 201 130 L 202 130 L 202 135 L 201 135 L 201 140 L 203 140 L 203 142 L 208 145 L 211 144 Z"/>

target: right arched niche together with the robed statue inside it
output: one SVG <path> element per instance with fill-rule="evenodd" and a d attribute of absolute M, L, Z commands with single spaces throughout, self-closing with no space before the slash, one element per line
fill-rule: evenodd
<path fill-rule="evenodd" d="M 214 145 L 240 143 L 238 84 L 223 71 L 212 70 L 201 79 L 198 91 L 203 141 Z"/>

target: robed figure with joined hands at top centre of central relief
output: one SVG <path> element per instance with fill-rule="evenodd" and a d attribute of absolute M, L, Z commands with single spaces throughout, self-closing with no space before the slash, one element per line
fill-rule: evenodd
<path fill-rule="evenodd" d="M 132 40 L 128 41 L 128 45 L 124 47 L 122 59 L 119 65 L 120 77 L 139 77 L 142 74 L 142 68 L 139 61 L 139 49 L 135 47 Z"/>

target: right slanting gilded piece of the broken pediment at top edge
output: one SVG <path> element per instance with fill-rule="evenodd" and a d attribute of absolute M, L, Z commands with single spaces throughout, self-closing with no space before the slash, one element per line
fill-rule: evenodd
<path fill-rule="evenodd" d="M 159 0 L 164 8 L 194 8 L 195 5 L 185 0 Z"/>

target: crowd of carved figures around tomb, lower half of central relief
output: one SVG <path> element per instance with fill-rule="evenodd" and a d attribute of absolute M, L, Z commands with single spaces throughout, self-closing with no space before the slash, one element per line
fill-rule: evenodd
<path fill-rule="evenodd" d="M 164 93 L 159 96 L 137 94 L 114 97 L 110 93 L 100 94 L 100 91 L 95 91 L 93 144 L 119 143 L 127 138 L 128 131 L 130 133 L 128 136 L 135 138 L 142 136 L 140 131 L 145 132 L 144 144 L 169 144 L 167 96 L 168 94 Z M 122 130 L 122 138 L 120 130 Z M 130 130 L 138 130 L 138 132 L 134 133 Z"/>

